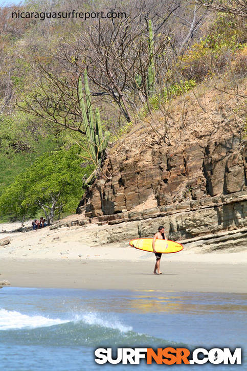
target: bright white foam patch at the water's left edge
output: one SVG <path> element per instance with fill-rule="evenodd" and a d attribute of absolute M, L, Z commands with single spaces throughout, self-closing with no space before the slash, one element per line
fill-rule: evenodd
<path fill-rule="evenodd" d="M 40 327 L 53 326 L 69 322 L 68 320 L 61 320 L 59 318 L 47 318 L 40 315 L 30 316 L 21 314 L 15 311 L 7 311 L 0 309 L 0 330 L 11 329 L 35 329 Z"/>

